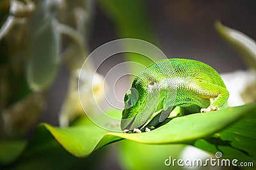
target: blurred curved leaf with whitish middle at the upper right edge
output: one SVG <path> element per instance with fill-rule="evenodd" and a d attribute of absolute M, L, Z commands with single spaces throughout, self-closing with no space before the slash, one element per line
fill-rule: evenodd
<path fill-rule="evenodd" d="M 216 22 L 215 28 L 220 36 L 243 58 L 244 62 L 256 68 L 256 42 L 244 33 L 223 26 L 220 22 Z"/>

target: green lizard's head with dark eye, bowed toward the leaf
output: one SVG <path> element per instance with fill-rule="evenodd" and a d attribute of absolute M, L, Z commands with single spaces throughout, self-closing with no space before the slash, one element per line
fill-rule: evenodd
<path fill-rule="evenodd" d="M 132 88 L 125 94 L 124 104 L 122 130 L 139 128 L 146 123 L 152 114 L 148 106 L 148 82 L 136 77 L 132 82 Z"/>

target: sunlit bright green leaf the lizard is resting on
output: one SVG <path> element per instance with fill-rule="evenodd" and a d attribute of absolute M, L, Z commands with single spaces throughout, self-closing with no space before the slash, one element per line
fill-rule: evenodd
<path fill-rule="evenodd" d="M 190 114 L 175 118 L 156 130 L 142 134 L 108 132 L 87 119 L 81 119 L 79 123 L 69 128 L 52 127 L 48 124 L 40 126 L 47 128 L 72 155 L 86 157 L 92 151 L 120 139 L 145 144 L 191 144 L 196 139 L 211 136 L 243 116 L 250 116 L 255 109 L 256 104 L 252 103 L 220 111 Z"/>

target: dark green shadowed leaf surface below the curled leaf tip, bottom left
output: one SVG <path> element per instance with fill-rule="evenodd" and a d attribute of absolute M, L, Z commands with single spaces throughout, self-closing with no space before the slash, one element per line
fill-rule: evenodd
<path fill-rule="evenodd" d="M 105 147 L 88 158 L 74 157 L 63 150 L 45 127 L 39 126 L 20 157 L 12 164 L 0 164 L 0 169 L 102 169 L 105 165 L 99 162 L 108 157 L 107 154 L 109 148 Z"/>

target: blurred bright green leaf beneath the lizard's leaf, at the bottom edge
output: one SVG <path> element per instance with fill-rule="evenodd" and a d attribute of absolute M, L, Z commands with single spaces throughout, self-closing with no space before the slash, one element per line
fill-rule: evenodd
<path fill-rule="evenodd" d="M 118 162 L 122 169 L 184 169 L 165 166 L 164 161 L 170 157 L 178 160 L 185 146 L 141 144 L 125 140 L 118 143 Z"/>

